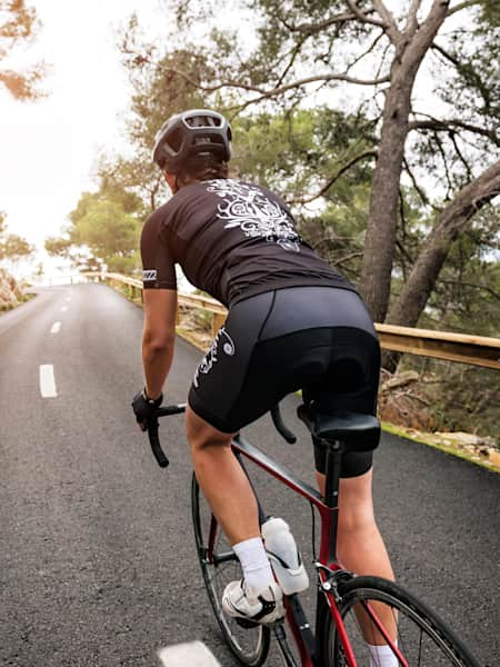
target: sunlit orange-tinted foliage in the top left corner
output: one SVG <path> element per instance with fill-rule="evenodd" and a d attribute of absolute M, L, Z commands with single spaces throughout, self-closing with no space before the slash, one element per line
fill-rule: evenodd
<path fill-rule="evenodd" d="M 31 40 L 39 28 L 36 10 L 24 0 L 0 0 L 0 84 L 19 100 L 40 97 L 38 82 L 44 74 L 42 64 L 18 72 L 2 67 L 12 49 L 20 42 Z"/>

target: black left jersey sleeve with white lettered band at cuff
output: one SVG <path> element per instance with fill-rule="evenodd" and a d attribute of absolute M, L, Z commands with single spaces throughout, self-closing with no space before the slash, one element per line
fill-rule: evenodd
<path fill-rule="evenodd" d="M 142 285 L 144 289 L 177 289 L 176 259 L 159 211 L 144 223 L 141 235 Z"/>

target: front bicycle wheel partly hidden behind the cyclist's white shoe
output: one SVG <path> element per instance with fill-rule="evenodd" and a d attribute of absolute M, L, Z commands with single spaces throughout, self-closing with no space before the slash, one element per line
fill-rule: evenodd
<path fill-rule="evenodd" d="M 191 511 L 198 560 L 208 597 L 224 640 L 242 665 L 260 667 L 268 657 L 271 631 L 266 626 L 242 628 L 233 618 L 227 616 L 222 609 L 223 589 L 230 581 L 240 579 L 242 573 L 240 563 L 213 518 L 194 475 L 191 485 Z M 213 537 L 212 557 L 209 556 L 208 548 L 211 529 L 217 531 Z"/>

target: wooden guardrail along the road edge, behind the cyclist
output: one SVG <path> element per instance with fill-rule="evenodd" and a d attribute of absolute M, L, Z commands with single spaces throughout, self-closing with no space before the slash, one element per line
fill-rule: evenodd
<path fill-rule="evenodd" d="M 132 297 L 142 296 L 142 282 L 120 273 L 84 272 L 82 276 L 122 283 L 130 289 Z M 213 315 L 212 332 L 216 334 L 226 320 L 227 309 L 209 297 L 179 292 L 178 302 L 188 308 L 200 308 Z M 446 361 L 460 361 L 484 368 L 500 369 L 500 339 L 430 329 L 397 327 L 376 323 L 380 346 L 386 350 L 407 352 L 421 357 L 434 357 Z"/>

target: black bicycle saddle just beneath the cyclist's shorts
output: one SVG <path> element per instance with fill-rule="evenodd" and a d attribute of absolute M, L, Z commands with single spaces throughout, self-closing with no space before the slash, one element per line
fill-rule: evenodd
<path fill-rule="evenodd" d="M 326 414 L 302 405 L 297 415 L 314 438 L 333 442 L 339 440 L 346 451 L 371 451 L 380 440 L 380 421 L 360 412 Z"/>

